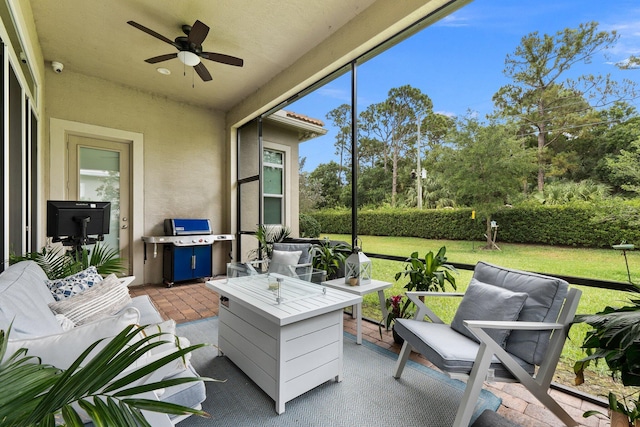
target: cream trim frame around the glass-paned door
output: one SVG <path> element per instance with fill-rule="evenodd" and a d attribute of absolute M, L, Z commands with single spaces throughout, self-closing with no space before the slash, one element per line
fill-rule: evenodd
<path fill-rule="evenodd" d="M 142 233 L 144 230 L 144 135 L 120 129 L 90 125 L 51 118 L 49 150 L 49 198 L 66 200 L 68 197 L 68 169 L 66 136 L 68 134 L 98 137 L 131 144 L 131 275 L 139 277 L 135 284 L 144 281 Z"/>

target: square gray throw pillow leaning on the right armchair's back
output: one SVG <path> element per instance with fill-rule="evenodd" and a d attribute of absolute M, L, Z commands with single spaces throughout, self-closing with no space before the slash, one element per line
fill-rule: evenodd
<path fill-rule="evenodd" d="M 469 287 L 451 321 L 451 328 L 476 342 L 480 342 L 464 326 L 464 320 L 517 320 L 527 297 L 528 295 L 524 292 L 512 292 L 471 279 L 471 283 L 469 283 Z M 502 347 L 509 333 L 511 333 L 509 329 L 485 329 L 485 331 Z"/>

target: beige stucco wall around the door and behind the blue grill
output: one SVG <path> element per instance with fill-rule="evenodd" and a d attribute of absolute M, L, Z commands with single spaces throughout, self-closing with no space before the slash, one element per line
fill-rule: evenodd
<path fill-rule="evenodd" d="M 174 77 L 171 77 L 174 78 Z M 180 78 L 180 77 L 176 77 Z M 144 135 L 144 235 L 162 235 L 164 218 L 209 218 L 216 234 L 229 229 L 228 150 L 224 115 L 64 71 L 46 71 L 45 156 L 50 118 Z M 185 85 L 185 90 L 194 90 Z M 46 166 L 48 169 L 48 165 Z M 45 171 L 48 175 L 49 171 Z M 48 190 L 47 190 L 48 191 Z M 45 198 L 48 195 L 45 196 Z M 136 201 L 140 206 L 140 201 Z M 229 243 L 214 245 L 214 274 L 224 273 Z M 144 264 L 143 283 L 162 281 L 161 248 Z M 134 257 L 143 257 L 141 246 Z M 135 272 L 138 278 L 141 272 Z"/>

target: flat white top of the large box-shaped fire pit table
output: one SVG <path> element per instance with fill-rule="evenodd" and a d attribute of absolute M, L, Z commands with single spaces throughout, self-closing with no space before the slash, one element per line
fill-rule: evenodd
<path fill-rule="evenodd" d="M 273 273 L 211 280 L 206 286 L 280 326 L 362 302 L 353 293 Z"/>

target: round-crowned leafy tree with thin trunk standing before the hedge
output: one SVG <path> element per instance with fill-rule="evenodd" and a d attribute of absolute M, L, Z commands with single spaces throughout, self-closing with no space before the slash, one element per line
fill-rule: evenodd
<path fill-rule="evenodd" d="M 530 150 L 523 150 L 514 125 L 481 123 L 467 116 L 458 121 L 451 144 L 439 150 L 437 169 L 459 203 L 486 217 L 487 249 L 491 214 L 520 192 L 520 182 L 532 167 Z"/>

